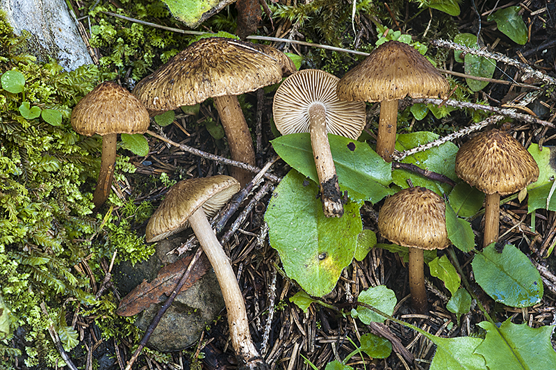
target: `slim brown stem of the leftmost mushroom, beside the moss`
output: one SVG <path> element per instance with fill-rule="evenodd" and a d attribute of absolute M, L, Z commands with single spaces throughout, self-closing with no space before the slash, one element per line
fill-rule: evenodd
<path fill-rule="evenodd" d="M 97 188 L 92 195 L 92 202 L 95 209 L 99 209 L 110 194 L 112 178 L 114 177 L 114 166 L 116 163 L 116 140 L 117 134 L 107 134 L 102 136 L 102 154 L 100 159 L 99 179 Z"/>

